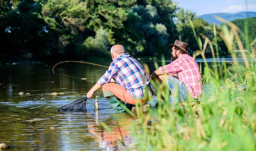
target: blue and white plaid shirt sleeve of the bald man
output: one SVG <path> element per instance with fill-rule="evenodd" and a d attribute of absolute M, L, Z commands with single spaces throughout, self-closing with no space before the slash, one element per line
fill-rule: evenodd
<path fill-rule="evenodd" d="M 109 83 L 111 78 L 115 77 L 116 74 L 119 72 L 119 67 L 117 66 L 117 64 L 115 64 L 114 62 L 112 62 L 108 68 L 108 70 L 106 71 L 106 73 L 99 78 L 99 80 L 97 81 L 97 83 L 99 85 L 103 85 L 106 83 Z"/>

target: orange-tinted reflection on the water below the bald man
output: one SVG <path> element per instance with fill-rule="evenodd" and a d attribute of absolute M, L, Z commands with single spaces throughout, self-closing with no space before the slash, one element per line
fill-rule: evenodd
<path fill-rule="evenodd" d="M 131 149 L 132 136 L 127 128 L 132 126 L 134 120 L 137 120 L 137 117 L 132 117 L 127 113 L 113 113 L 104 121 L 111 131 L 93 121 L 88 124 L 88 130 L 93 134 L 93 139 L 99 143 L 100 148 Z"/>

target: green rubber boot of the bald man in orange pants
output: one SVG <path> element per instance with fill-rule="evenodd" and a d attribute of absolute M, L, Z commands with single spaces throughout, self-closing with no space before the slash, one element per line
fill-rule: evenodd
<path fill-rule="evenodd" d="M 125 109 L 121 106 L 125 106 L 125 102 L 122 100 L 118 99 L 113 93 L 110 91 L 104 91 L 103 96 L 108 99 L 108 102 L 112 105 L 112 107 L 117 110 L 117 112 L 125 112 Z M 121 105 L 120 105 L 121 103 Z"/>

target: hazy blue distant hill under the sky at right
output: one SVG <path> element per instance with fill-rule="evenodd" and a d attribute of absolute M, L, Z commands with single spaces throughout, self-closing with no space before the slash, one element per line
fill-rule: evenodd
<path fill-rule="evenodd" d="M 230 13 L 215 13 L 215 14 L 206 14 L 201 15 L 198 17 L 202 17 L 204 20 L 208 21 L 209 23 L 215 23 L 216 25 L 220 25 L 222 22 L 215 19 L 214 15 L 224 18 L 225 20 L 232 21 L 236 19 L 244 19 L 246 18 L 246 12 L 239 12 L 236 14 Z M 249 17 L 256 17 L 256 12 L 248 12 Z"/>

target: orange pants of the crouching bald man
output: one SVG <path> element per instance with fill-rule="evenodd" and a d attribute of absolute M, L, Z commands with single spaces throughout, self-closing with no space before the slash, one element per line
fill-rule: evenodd
<path fill-rule="evenodd" d="M 116 83 L 107 83 L 102 86 L 102 91 L 110 91 L 113 93 L 116 97 L 118 97 L 120 100 L 129 103 L 131 105 L 138 105 L 143 104 L 147 101 L 149 101 L 152 98 L 152 94 L 149 96 L 145 96 L 142 99 L 133 99 L 128 93 L 128 91 L 121 85 Z"/>

